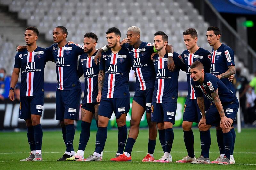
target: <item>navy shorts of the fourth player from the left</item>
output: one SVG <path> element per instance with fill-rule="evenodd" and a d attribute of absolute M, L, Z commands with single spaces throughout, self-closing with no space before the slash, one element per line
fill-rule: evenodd
<path fill-rule="evenodd" d="M 115 113 L 116 119 L 122 114 L 126 114 L 130 110 L 129 98 L 101 98 L 98 115 L 111 118 L 112 113 Z"/>

